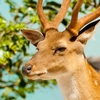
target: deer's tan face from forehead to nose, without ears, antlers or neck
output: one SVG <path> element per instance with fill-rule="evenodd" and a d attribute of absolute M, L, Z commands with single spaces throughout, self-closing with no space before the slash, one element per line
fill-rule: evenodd
<path fill-rule="evenodd" d="M 30 79 L 47 80 L 65 73 L 68 70 L 66 63 L 70 62 L 70 52 L 74 47 L 70 34 L 65 33 L 55 30 L 46 33 L 37 45 L 38 52 L 23 67 L 23 74 Z"/>

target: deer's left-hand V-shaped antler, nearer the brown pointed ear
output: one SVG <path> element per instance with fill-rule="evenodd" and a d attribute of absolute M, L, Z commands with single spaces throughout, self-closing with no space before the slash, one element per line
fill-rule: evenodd
<path fill-rule="evenodd" d="M 59 23 L 63 20 L 64 16 L 66 15 L 66 12 L 68 10 L 68 7 L 69 7 L 71 0 L 63 0 L 63 3 L 61 5 L 61 9 L 60 9 L 59 13 L 55 16 L 55 18 L 51 22 L 49 22 L 47 20 L 45 14 L 43 12 L 42 1 L 43 0 L 38 0 L 37 12 L 38 12 L 38 16 L 40 18 L 40 21 L 44 27 L 44 31 L 47 31 L 50 28 L 57 29 Z"/>

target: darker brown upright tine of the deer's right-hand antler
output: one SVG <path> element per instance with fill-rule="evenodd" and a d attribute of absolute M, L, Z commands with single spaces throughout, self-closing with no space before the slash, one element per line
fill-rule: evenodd
<path fill-rule="evenodd" d="M 67 27 L 68 30 L 72 31 L 74 35 L 78 35 L 77 32 L 74 31 L 74 28 L 78 21 L 78 12 L 84 0 L 78 0 L 77 4 L 75 5 L 73 12 L 72 12 L 72 19 L 70 25 Z"/>

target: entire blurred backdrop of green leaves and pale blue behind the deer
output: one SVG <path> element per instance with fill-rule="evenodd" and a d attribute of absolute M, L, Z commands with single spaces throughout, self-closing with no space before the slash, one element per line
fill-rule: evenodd
<path fill-rule="evenodd" d="M 71 4 L 59 25 L 63 31 L 69 24 L 74 5 Z M 21 68 L 37 52 L 21 34 L 29 28 L 43 32 L 36 11 L 37 0 L 0 0 L 0 100 L 63 100 L 55 80 L 32 81 L 25 78 Z M 59 11 L 62 0 L 44 0 L 44 12 L 49 20 Z M 84 0 L 79 17 L 100 7 L 100 0 Z M 90 60 L 100 57 L 100 25 L 85 47 Z M 100 61 L 100 59 L 98 60 Z"/>

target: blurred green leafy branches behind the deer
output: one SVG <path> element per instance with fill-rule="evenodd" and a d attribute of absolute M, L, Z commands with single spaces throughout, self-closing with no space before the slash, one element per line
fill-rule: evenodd
<path fill-rule="evenodd" d="M 64 18 L 62 24 L 69 23 L 72 9 L 77 0 L 72 0 L 70 10 L 67 17 Z M 10 7 L 9 14 L 12 20 L 8 21 L 6 16 L 0 15 L 0 100 L 17 100 L 18 97 L 24 99 L 27 92 L 34 92 L 37 84 L 45 87 L 49 84 L 56 84 L 52 81 L 31 81 L 21 74 L 21 67 L 25 63 L 24 58 L 30 58 L 33 54 L 29 54 L 30 43 L 21 35 L 20 30 L 23 28 L 40 29 L 40 21 L 36 12 L 35 0 L 23 0 L 22 5 L 18 5 L 16 0 L 5 0 Z M 80 10 L 85 14 L 94 7 L 98 7 L 100 1 L 85 0 L 84 7 Z M 54 0 L 45 1 L 44 12 L 49 20 L 57 14 L 60 4 Z M 92 11 L 91 10 L 91 11 Z"/>

